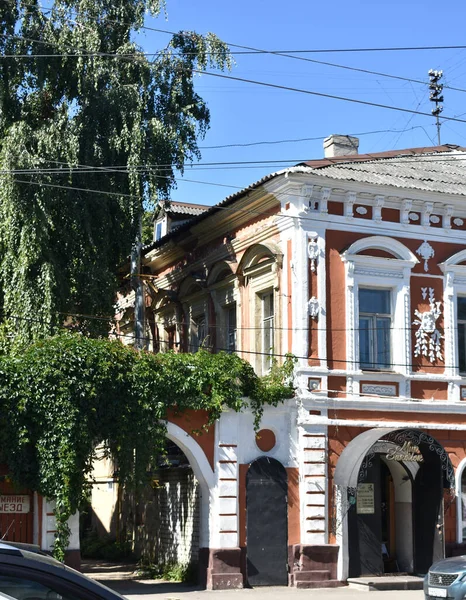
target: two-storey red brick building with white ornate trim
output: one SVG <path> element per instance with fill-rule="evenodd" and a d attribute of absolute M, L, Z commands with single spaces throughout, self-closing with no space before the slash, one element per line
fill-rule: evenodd
<path fill-rule="evenodd" d="M 238 352 L 258 374 L 298 357 L 259 436 L 248 411 L 196 439 L 168 423 L 213 588 L 425 573 L 466 541 L 466 149 L 324 147 L 144 248 L 152 350 Z"/>

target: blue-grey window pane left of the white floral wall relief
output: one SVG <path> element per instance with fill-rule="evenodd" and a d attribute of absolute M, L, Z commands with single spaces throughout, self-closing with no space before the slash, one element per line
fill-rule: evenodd
<path fill-rule="evenodd" d="M 359 365 L 361 369 L 390 369 L 391 290 L 359 288 Z"/>

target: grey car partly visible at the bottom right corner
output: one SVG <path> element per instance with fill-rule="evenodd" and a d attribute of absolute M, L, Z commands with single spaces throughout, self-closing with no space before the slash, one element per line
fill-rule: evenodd
<path fill-rule="evenodd" d="M 424 579 L 426 600 L 463 600 L 466 595 L 466 556 L 453 556 L 433 564 Z"/>

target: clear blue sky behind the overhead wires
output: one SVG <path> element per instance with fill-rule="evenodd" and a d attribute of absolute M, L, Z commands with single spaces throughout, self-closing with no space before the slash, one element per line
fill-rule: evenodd
<path fill-rule="evenodd" d="M 146 25 L 172 31 L 212 31 L 230 44 L 264 50 L 380 48 L 466 45 L 466 5 L 432 0 L 167 0 L 167 19 Z M 155 52 L 169 39 L 145 31 L 139 42 Z M 232 50 L 235 50 L 232 48 Z M 444 71 L 442 143 L 466 146 L 466 49 L 405 52 L 299 54 L 416 79 L 400 81 L 270 54 L 236 55 L 234 77 L 253 79 L 430 113 L 429 69 Z M 360 153 L 437 145 L 433 117 L 358 105 L 329 98 L 222 80 L 203 75 L 197 89 L 211 111 L 211 128 L 201 147 L 275 142 L 230 148 L 203 148 L 199 164 L 179 178 L 173 200 L 216 204 L 267 173 L 323 156 L 322 140 L 332 134 L 359 134 Z M 390 130 L 386 132 L 385 130 Z M 378 133 L 369 133 L 378 132 Z M 319 138 L 301 142 L 284 142 Z M 206 165 L 240 162 L 244 165 Z M 259 161 L 264 161 L 258 165 Z M 283 161 L 283 162 L 279 162 Z M 252 163 L 252 164 L 251 164 Z M 195 183 L 196 180 L 202 183 Z"/>

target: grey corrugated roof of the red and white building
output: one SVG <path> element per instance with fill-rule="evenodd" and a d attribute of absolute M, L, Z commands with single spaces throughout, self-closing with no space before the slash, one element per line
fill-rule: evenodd
<path fill-rule="evenodd" d="M 373 154 L 351 154 L 309 160 L 294 167 L 288 167 L 265 175 L 224 200 L 211 207 L 189 205 L 202 208 L 193 214 L 188 222 L 173 229 L 156 242 L 144 247 L 145 252 L 163 246 L 176 234 L 189 229 L 209 215 L 224 210 L 235 200 L 244 196 L 263 183 L 288 173 L 312 173 L 322 178 L 356 181 L 376 185 L 388 185 L 398 188 L 415 189 L 428 192 L 440 192 L 466 196 L 466 147 L 454 144 L 389 150 Z M 172 202 L 183 205 L 182 202 Z"/>

